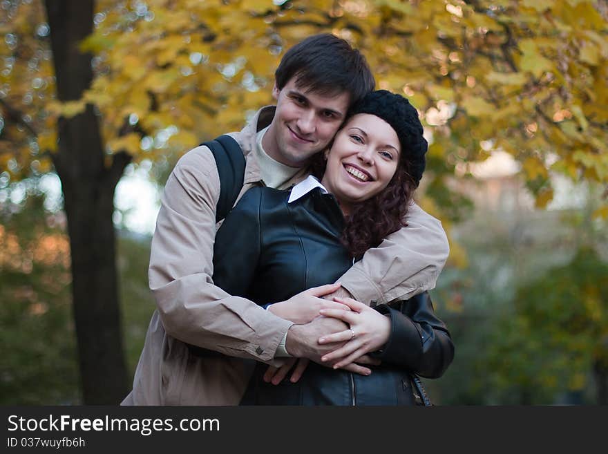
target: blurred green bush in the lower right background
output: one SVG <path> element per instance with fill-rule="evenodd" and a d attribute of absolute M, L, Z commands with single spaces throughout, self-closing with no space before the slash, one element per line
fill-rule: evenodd
<path fill-rule="evenodd" d="M 538 404 L 594 384 L 608 404 L 608 264 L 595 250 L 522 285 L 507 310 L 486 343 L 495 394 Z"/>

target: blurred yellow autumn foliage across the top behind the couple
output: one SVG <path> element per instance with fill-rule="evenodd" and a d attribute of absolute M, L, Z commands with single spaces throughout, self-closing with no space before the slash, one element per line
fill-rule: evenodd
<path fill-rule="evenodd" d="M 39 2 L 2 8 L 0 163 L 12 179 L 50 169 L 57 117 L 86 103 L 107 153 L 135 160 L 240 129 L 272 102 L 283 50 L 331 31 L 363 50 L 379 87 L 419 108 L 433 135 L 431 187 L 495 149 L 523 164 L 540 207 L 550 171 L 608 181 L 603 1 L 99 1 L 80 46 L 95 54 L 95 81 L 66 103 L 55 100 Z"/>

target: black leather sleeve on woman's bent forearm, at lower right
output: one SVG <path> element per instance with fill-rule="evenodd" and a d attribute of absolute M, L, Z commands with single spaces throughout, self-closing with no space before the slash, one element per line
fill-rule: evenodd
<path fill-rule="evenodd" d="M 383 349 L 372 356 L 383 362 L 439 378 L 454 359 L 454 344 L 446 324 L 435 315 L 427 292 L 400 303 L 401 310 L 386 304 L 377 306 L 390 317 L 390 337 Z"/>

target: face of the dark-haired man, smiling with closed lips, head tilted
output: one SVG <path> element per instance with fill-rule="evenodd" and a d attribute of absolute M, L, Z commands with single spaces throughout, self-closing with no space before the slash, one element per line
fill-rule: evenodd
<path fill-rule="evenodd" d="M 327 148 L 350 102 L 348 93 L 330 97 L 298 88 L 294 77 L 282 90 L 275 85 L 272 95 L 276 113 L 262 143 L 271 158 L 291 167 L 302 167 Z"/>

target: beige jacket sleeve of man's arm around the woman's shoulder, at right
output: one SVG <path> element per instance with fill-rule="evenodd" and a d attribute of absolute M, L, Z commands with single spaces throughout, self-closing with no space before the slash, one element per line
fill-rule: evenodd
<path fill-rule="evenodd" d="M 435 288 L 450 247 L 441 222 L 412 202 L 407 227 L 368 249 L 339 279 L 361 303 L 390 303 Z"/>

